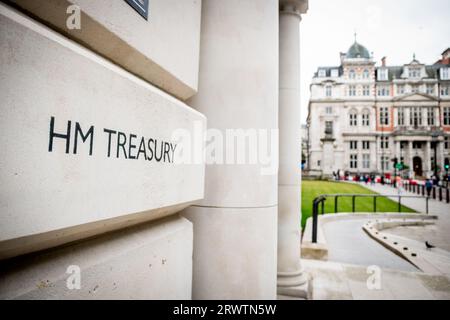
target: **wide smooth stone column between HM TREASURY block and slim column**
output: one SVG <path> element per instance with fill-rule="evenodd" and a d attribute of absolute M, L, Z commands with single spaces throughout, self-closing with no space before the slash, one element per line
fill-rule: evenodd
<path fill-rule="evenodd" d="M 277 142 L 278 0 L 203 0 L 200 43 L 199 91 L 188 104 L 211 136 L 205 197 L 183 212 L 194 224 L 192 297 L 275 299 L 278 152 L 262 150 L 273 152 L 272 170 L 248 154 Z M 208 157 L 213 142 L 218 162 Z"/>

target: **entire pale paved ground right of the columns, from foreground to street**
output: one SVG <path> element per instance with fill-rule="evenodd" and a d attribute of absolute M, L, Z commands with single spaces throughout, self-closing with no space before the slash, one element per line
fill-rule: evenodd
<path fill-rule="evenodd" d="M 390 186 L 361 185 L 380 194 L 398 194 L 397 189 Z M 402 194 L 414 195 L 406 191 Z M 395 198 L 392 200 L 397 201 Z M 424 199 L 404 198 L 402 204 L 425 213 Z M 403 250 L 408 246 L 417 252 L 418 258 L 423 256 L 427 262 L 432 262 L 433 267 L 439 267 L 439 272 L 422 272 L 370 237 L 363 226 L 369 221 L 373 223 L 373 217 L 329 221 L 323 225 L 328 261 L 302 259 L 302 265 L 311 277 L 309 299 L 449 300 L 450 205 L 430 199 L 429 214 L 438 217 L 432 224 L 388 227 L 383 230 L 387 237 L 382 238 L 401 243 Z M 390 219 L 387 221 L 390 223 Z M 428 251 L 425 241 L 436 248 Z M 441 258 L 445 261 L 440 261 Z"/>

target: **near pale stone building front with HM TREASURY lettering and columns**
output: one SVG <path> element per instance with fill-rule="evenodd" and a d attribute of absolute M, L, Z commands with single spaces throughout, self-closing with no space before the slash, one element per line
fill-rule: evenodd
<path fill-rule="evenodd" d="M 305 297 L 307 10 L 2 1 L 0 299 Z M 281 143 L 228 147 L 230 131 Z M 268 161 L 235 161 L 261 145 Z"/>

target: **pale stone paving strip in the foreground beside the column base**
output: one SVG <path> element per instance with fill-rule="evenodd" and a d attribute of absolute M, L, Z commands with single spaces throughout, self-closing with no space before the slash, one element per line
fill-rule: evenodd
<path fill-rule="evenodd" d="M 312 300 L 450 299 L 450 278 L 330 261 L 302 260 Z"/>

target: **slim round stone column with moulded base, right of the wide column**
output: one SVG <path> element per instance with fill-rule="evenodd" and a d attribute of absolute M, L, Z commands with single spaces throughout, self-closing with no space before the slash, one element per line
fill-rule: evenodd
<path fill-rule="evenodd" d="M 307 0 L 280 0 L 280 169 L 278 173 L 278 293 L 305 296 L 300 263 L 301 131 L 300 20 Z"/>

